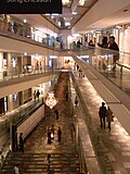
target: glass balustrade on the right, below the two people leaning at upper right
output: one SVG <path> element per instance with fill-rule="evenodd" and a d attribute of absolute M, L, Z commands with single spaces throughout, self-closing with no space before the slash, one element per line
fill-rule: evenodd
<path fill-rule="evenodd" d="M 130 53 L 88 47 L 80 49 L 78 55 L 130 95 Z"/>

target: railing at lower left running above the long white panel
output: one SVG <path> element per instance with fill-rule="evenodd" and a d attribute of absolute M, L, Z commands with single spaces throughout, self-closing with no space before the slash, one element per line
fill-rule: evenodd
<path fill-rule="evenodd" d="M 4 145 L 0 145 L 0 163 L 2 165 L 6 154 L 9 153 L 10 149 L 10 123 L 12 124 L 20 124 L 21 122 L 25 121 L 29 115 L 31 115 L 43 103 L 43 99 L 40 98 L 39 100 L 31 102 L 28 107 L 22 108 L 16 112 L 12 113 L 6 120 L 4 119 L 3 122 L 0 122 L 0 137 L 4 135 Z M 3 144 L 3 142 L 2 142 Z"/>

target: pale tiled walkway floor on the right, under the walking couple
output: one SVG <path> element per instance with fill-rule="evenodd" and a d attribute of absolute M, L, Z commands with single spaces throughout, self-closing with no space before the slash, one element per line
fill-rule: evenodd
<path fill-rule="evenodd" d="M 108 132 L 107 123 L 106 128 L 101 129 L 98 113 L 103 99 L 94 90 L 87 77 L 79 78 L 77 73 L 75 73 L 75 77 L 81 91 L 81 97 L 91 115 L 88 129 L 102 169 L 106 170 L 105 166 L 108 166 L 109 173 L 130 174 L 130 136 L 116 116 L 112 122 L 110 132 Z M 104 174 L 106 173 L 105 170 L 103 170 Z"/>

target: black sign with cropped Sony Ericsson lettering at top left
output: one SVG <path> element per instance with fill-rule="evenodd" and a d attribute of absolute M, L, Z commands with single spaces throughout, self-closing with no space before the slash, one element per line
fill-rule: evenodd
<path fill-rule="evenodd" d="M 0 0 L 0 14 L 62 13 L 62 0 Z"/>

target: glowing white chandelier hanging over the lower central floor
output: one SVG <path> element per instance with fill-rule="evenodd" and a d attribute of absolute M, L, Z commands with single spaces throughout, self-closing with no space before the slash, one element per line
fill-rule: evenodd
<path fill-rule="evenodd" d="M 55 99 L 54 97 L 54 92 L 53 91 L 50 91 L 47 96 L 47 100 L 46 100 L 46 104 L 52 109 L 54 105 L 56 105 L 57 103 L 57 100 Z"/>

